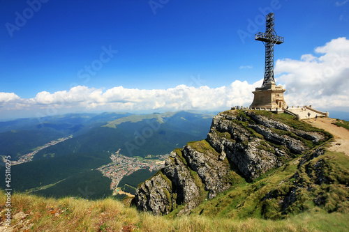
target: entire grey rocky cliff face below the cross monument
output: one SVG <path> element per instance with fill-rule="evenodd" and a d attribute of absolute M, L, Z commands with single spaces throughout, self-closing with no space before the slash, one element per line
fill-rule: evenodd
<path fill-rule="evenodd" d="M 165 168 L 138 187 L 134 203 L 154 215 L 180 205 L 179 214 L 189 212 L 241 176 L 252 181 L 324 139 L 321 132 L 288 125 L 272 113 L 222 112 L 213 118 L 207 139 L 174 150 Z"/>

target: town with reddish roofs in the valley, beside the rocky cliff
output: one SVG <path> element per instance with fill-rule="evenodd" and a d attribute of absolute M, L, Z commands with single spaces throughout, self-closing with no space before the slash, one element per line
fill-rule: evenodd
<path fill-rule="evenodd" d="M 98 170 L 106 176 L 112 179 L 110 184 L 111 190 L 116 190 L 120 180 L 124 176 L 128 176 L 131 173 L 140 169 L 149 169 L 154 171 L 161 169 L 165 166 L 165 159 L 169 155 L 147 155 L 144 159 L 142 157 L 127 157 L 119 154 L 119 150 L 110 156 L 112 162 L 99 167 Z"/>

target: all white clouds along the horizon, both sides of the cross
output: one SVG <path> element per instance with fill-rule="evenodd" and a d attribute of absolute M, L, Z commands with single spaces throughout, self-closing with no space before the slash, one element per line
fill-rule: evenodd
<path fill-rule="evenodd" d="M 315 54 L 318 56 L 304 54 L 300 60 L 276 61 L 274 72 L 279 76 L 276 82 L 287 89 L 286 102 L 349 111 L 349 40 L 334 39 L 315 48 Z M 87 110 L 224 110 L 235 105 L 251 105 L 252 91 L 261 84 L 262 80 L 253 84 L 236 80 L 220 88 L 180 85 L 153 90 L 76 86 L 56 93 L 43 91 L 30 99 L 20 98 L 15 93 L 0 93 L 0 118 L 9 117 L 15 111 L 27 112 L 28 116 L 50 116 Z"/>

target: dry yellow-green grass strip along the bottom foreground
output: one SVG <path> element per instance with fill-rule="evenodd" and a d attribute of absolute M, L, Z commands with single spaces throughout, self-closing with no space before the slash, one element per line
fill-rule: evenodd
<path fill-rule="evenodd" d="M 6 196 L 0 192 L 0 229 L 5 226 Z M 313 210 L 284 220 L 248 217 L 232 219 L 220 215 L 155 217 L 103 199 L 47 199 L 16 193 L 11 198 L 13 231 L 347 231 L 348 214 Z"/>

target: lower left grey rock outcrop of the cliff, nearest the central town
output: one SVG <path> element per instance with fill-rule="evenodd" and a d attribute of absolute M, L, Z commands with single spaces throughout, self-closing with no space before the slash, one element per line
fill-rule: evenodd
<path fill-rule="evenodd" d="M 219 160 L 215 150 L 201 150 L 207 141 L 187 144 L 174 150 L 165 161 L 165 168 L 142 183 L 135 194 L 135 204 L 154 215 L 166 215 L 179 205 L 185 205 L 179 214 L 198 206 L 203 197 L 209 199 L 230 185 L 224 176 L 230 171 L 227 162 Z"/>

